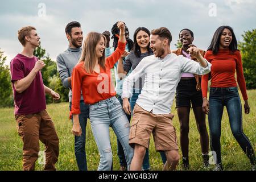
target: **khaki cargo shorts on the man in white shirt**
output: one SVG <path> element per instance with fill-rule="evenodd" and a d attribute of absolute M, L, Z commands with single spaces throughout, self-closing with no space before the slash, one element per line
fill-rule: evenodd
<path fill-rule="evenodd" d="M 136 104 L 130 128 L 130 146 L 139 144 L 148 148 L 152 133 L 156 151 L 179 150 L 173 117 L 174 114 L 152 114 Z"/>

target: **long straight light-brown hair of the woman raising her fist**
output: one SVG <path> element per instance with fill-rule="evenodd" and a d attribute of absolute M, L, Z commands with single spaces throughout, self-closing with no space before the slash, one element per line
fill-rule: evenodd
<path fill-rule="evenodd" d="M 85 38 L 84 45 L 82 46 L 82 55 L 80 57 L 79 63 L 81 61 L 84 61 L 84 69 L 88 73 L 93 73 L 93 69 L 97 60 L 95 48 L 102 37 L 104 38 L 106 46 L 105 36 L 98 32 L 89 32 Z M 98 59 L 98 64 L 100 64 L 101 68 L 105 69 L 105 50 L 102 57 Z"/>

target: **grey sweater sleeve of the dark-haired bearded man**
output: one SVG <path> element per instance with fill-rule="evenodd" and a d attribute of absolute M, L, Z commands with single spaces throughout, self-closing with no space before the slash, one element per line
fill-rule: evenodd
<path fill-rule="evenodd" d="M 57 71 L 60 75 L 61 83 L 65 88 L 70 88 L 71 84 L 68 82 L 69 71 L 61 55 L 57 56 Z"/>

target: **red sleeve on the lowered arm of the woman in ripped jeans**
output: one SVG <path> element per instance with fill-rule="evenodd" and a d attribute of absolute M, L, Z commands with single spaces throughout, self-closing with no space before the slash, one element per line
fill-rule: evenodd
<path fill-rule="evenodd" d="M 81 86 L 82 76 L 79 68 L 75 67 L 71 77 L 71 88 L 72 88 L 72 107 L 69 113 L 69 119 L 72 114 L 80 114 L 80 100 L 81 100 Z"/>

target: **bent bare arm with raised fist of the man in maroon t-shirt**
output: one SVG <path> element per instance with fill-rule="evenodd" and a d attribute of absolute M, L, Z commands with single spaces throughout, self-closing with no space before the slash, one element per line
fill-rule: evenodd
<path fill-rule="evenodd" d="M 21 80 L 17 80 L 14 81 L 14 87 L 15 90 L 18 93 L 22 93 L 24 90 L 26 90 L 28 88 L 28 86 L 31 85 L 32 81 L 34 80 L 36 74 L 38 74 L 38 72 L 43 69 L 43 67 L 45 67 L 45 63 L 44 61 L 36 61 L 35 67 L 32 69 L 32 71 L 24 78 L 22 78 Z"/>

